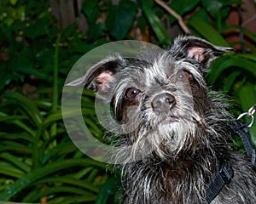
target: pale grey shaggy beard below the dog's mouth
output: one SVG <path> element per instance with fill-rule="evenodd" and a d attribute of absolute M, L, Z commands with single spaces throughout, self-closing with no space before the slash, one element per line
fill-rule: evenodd
<path fill-rule="evenodd" d="M 157 127 L 141 125 L 126 138 L 119 139 L 117 151 L 113 153 L 117 163 L 130 163 L 157 158 L 160 161 L 175 160 L 183 156 L 183 151 L 194 154 L 197 148 L 195 135 L 201 131 L 195 120 L 180 119 L 173 122 L 160 123 Z"/>

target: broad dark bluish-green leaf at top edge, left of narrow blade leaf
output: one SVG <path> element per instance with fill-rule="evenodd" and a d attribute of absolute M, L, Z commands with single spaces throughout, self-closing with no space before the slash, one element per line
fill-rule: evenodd
<path fill-rule="evenodd" d="M 136 13 L 137 3 L 132 1 L 121 0 L 118 6 L 111 7 L 106 22 L 110 34 L 117 40 L 124 39 L 132 26 Z"/>

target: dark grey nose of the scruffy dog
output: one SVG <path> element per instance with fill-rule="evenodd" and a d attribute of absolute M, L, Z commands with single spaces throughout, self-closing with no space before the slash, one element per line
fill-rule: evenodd
<path fill-rule="evenodd" d="M 152 100 L 152 108 L 155 112 L 168 112 L 176 104 L 172 94 L 159 94 Z"/>

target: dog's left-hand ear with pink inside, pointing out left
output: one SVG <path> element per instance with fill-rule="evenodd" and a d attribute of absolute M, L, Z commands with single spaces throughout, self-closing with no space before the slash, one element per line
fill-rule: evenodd
<path fill-rule="evenodd" d="M 73 82 L 68 82 L 67 87 L 88 88 L 100 94 L 108 93 L 109 83 L 113 82 L 114 74 L 119 70 L 119 67 L 125 64 L 125 60 L 121 57 L 109 57 L 102 59 L 96 65 L 93 65 L 83 77 L 80 77 Z"/>

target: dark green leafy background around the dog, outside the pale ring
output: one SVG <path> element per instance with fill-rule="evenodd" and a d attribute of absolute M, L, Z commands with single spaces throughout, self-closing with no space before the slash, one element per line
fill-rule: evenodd
<path fill-rule="evenodd" d="M 68 72 L 103 43 L 136 39 L 166 48 L 178 34 L 192 33 L 234 47 L 213 63 L 207 81 L 230 95 L 236 116 L 256 104 L 256 35 L 243 26 L 242 12 L 239 0 L 1 0 L 0 201 L 119 203 L 118 176 L 84 156 L 61 120 Z M 230 14 L 237 23 L 230 24 Z M 100 137 L 93 95 L 83 106 Z"/>

